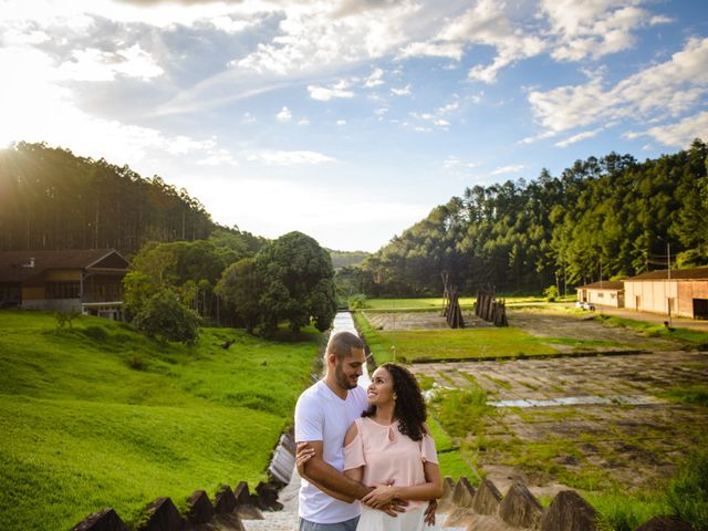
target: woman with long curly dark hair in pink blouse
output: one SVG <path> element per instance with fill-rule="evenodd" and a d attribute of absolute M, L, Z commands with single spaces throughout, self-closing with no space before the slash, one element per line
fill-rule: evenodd
<path fill-rule="evenodd" d="M 367 487 L 357 531 L 419 531 L 427 501 L 442 496 L 435 441 L 425 425 L 426 408 L 415 376 L 385 363 L 372 375 L 368 409 L 344 438 L 344 473 Z M 376 508 L 394 498 L 406 512 L 391 517 Z M 431 523 L 431 522 L 429 522 Z"/>

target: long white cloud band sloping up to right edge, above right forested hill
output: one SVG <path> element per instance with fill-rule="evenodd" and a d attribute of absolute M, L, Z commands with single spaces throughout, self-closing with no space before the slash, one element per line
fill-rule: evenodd
<path fill-rule="evenodd" d="M 552 133 L 617 119 L 663 121 L 690 111 L 708 93 L 708 39 L 690 39 L 670 60 L 604 88 L 601 76 L 585 85 L 531 91 L 529 102 Z"/>

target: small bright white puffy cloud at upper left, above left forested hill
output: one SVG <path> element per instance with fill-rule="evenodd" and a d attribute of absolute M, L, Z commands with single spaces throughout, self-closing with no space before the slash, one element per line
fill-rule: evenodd
<path fill-rule="evenodd" d="M 147 81 L 165 73 L 139 44 L 115 52 L 95 48 L 75 50 L 72 58 L 58 70 L 59 75 L 67 80 L 113 81 L 117 75 L 125 75 Z"/>

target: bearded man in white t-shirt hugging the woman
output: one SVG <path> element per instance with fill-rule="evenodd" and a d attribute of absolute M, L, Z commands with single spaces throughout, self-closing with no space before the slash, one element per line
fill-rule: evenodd
<path fill-rule="evenodd" d="M 346 478 L 342 444 L 348 427 L 366 409 L 357 385 L 366 363 L 364 344 L 351 332 L 332 336 L 323 379 L 305 389 L 295 406 L 295 441 L 313 451 L 300 488 L 300 531 L 355 531 L 362 499 L 369 489 Z M 303 445 L 300 445 L 302 448 Z"/>

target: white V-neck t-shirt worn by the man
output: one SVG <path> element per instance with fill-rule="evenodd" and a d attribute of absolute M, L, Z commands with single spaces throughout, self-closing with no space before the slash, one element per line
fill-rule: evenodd
<path fill-rule="evenodd" d="M 344 469 L 344 436 L 368 407 L 366 391 L 356 386 L 340 398 L 324 381 L 305 389 L 295 406 L 295 441 L 321 440 L 323 458 Z M 325 494 L 306 479 L 300 486 L 300 518 L 314 523 L 339 523 L 358 517 L 358 501 L 346 503 Z"/>

